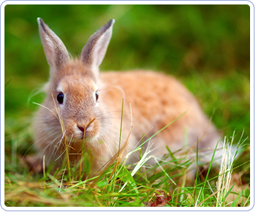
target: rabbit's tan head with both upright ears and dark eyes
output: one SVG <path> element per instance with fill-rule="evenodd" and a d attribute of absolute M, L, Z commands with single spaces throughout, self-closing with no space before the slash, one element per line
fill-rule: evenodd
<path fill-rule="evenodd" d="M 42 19 L 38 19 L 38 24 L 50 65 L 45 107 L 40 109 L 44 110 L 47 130 L 59 135 L 65 133 L 74 141 L 83 139 L 84 134 L 89 141 L 98 139 L 106 125 L 105 107 L 97 90 L 99 65 L 111 39 L 114 19 L 88 39 L 79 59 L 70 59 L 63 42 Z"/>

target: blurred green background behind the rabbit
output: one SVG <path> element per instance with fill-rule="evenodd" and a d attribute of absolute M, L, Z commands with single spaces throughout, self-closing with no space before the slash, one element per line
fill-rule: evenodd
<path fill-rule="evenodd" d="M 37 17 L 73 56 L 109 19 L 114 32 L 101 70 L 150 69 L 174 75 L 197 97 L 223 135 L 249 136 L 248 5 L 7 5 L 4 8 L 5 128 L 29 123 L 33 95 L 49 66 Z M 17 127 L 18 126 L 18 127 Z"/>

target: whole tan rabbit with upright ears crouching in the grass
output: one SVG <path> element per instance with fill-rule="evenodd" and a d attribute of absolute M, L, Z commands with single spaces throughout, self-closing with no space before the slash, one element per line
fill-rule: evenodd
<path fill-rule="evenodd" d="M 41 162 L 45 156 L 46 166 L 62 164 L 65 136 L 70 163 L 76 162 L 85 145 L 92 153 L 90 175 L 95 174 L 119 150 L 121 115 L 120 146 L 128 138 L 126 153 L 140 145 L 143 136 L 154 135 L 180 116 L 151 138 L 151 154 L 160 158 L 168 153 L 166 146 L 177 151 L 185 145 L 186 137 L 189 147 L 194 148 L 199 139 L 199 149 L 209 149 L 212 154 L 220 133 L 197 99 L 173 76 L 151 70 L 99 72 L 114 19 L 93 33 L 79 58 L 71 58 L 59 37 L 41 18 L 37 21 L 50 79 L 44 87 L 47 96 L 33 122 L 34 145 Z M 127 163 L 137 161 L 137 154 L 133 155 Z"/>

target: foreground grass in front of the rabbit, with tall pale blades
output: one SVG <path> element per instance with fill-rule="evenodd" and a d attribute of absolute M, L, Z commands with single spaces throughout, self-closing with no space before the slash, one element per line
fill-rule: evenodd
<path fill-rule="evenodd" d="M 59 117 L 61 117 L 60 114 Z M 170 122 L 169 125 L 173 122 Z M 24 133 L 24 130 L 21 132 Z M 63 133 L 65 134 L 64 128 Z M 145 142 L 150 142 L 156 134 L 146 139 Z M 63 137 L 65 139 L 65 136 Z M 85 180 L 82 180 L 81 177 L 81 164 L 88 163 L 88 153 L 85 149 L 81 153 L 81 161 L 75 167 L 69 167 L 69 160 L 66 159 L 62 168 L 58 168 L 54 173 L 51 172 L 50 168 L 45 170 L 44 167 L 43 174 L 35 175 L 25 165 L 21 166 L 17 163 L 18 159 L 22 161 L 22 156 L 17 153 L 18 138 L 12 139 L 11 158 L 6 157 L 5 160 L 5 205 L 9 207 L 142 207 L 149 205 L 164 207 L 248 207 L 250 204 L 249 182 L 243 182 L 243 185 L 247 185 L 245 190 L 240 192 L 232 190 L 235 185 L 231 183 L 232 171 L 236 170 L 233 167 L 234 159 L 246 141 L 243 139 L 242 142 L 241 136 L 237 150 L 232 153 L 234 133 L 231 136 L 232 142 L 228 142 L 227 138 L 224 139 L 219 173 L 216 173 L 216 168 L 214 169 L 212 166 L 214 162 L 214 158 L 212 158 L 209 165 L 206 164 L 209 167 L 206 176 L 200 174 L 199 161 L 202 153 L 199 153 L 197 148 L 196 159 L 191 158 L 190 155 L 194 154 L 194 150 L 189 150 L 186 146 L 175 153 L 171 153 L 171 150 L 168 149 L 169 153 L 163 159 L 157 159 L 150 155 L 151 145 L 149 144 L 143 155 L 140 152 L 139 162 L 134 165 L 125 165 L 128 156 L 131 156 L 133 152 L 140 151 L 142 145 L 145 144 L 143 142 L 133 152 L 128 153 L 124 160 L 120 160 L 120 158 L 125 144 L 120 146 L 118 156 L 113 164 L 108 164 L 105 170 L 102 169 L 102 173 L 99 172 L 96 176 Z M 216 150 L 217 147 L 214 153 Z M 66 148 L 66 153 L 68 156 L 68 148 Z M 147 165 L 148 159 L 151 158 L 156 160 L 156 165 Z M 186 173 L 191 170 L 190 165 L 193 162 L 197 163 L 195 182 L 186 178 Z M 249 171 L 248 165 L 249 161 L 241 165 L 243 166 L 243 173 Z M 240 175 L 240 181 L 242 177 L 243 174 Z M 236 196 L 230 200 L 228 196 L 232 193 Z"/>

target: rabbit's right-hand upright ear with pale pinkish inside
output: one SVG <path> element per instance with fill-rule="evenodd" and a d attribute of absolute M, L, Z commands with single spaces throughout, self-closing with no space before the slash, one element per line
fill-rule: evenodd
<path fill-rule="evenodd" d="M 98 76 L 99 65 L 104 59 L 108 44 L 111 40 L 114 19 L 108 21 L 103 27 L 94 33 L 82 48 L 80 59 L 88 69 Z"/>

